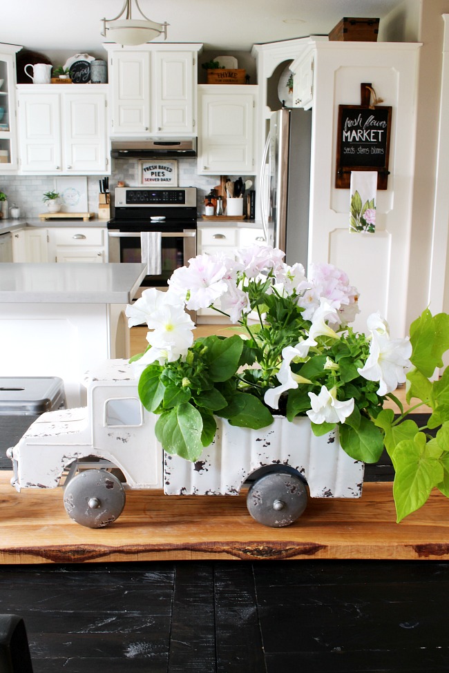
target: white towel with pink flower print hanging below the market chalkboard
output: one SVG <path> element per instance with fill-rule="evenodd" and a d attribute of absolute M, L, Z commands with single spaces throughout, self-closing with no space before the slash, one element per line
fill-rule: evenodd
<path fill-rule="evenodd" d="M 377 171 L 352 170 L 350 231 L 376 231 Z"/>

